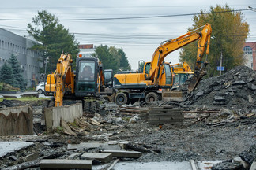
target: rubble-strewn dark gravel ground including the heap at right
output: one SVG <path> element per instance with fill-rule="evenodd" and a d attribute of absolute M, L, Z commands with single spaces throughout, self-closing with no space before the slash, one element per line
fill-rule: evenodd
<path fill-rule="evenodd" d="M 222 77 L 213 77 L 210 81 L 205 79 L 183 102 L 137 102 L 118 106 L 103 100 L 99 113 L 94 116 L 85 114 L 68 124 L 70 128 L 59 127 L 55 131 L 47 131 L 40 125 L 42 101 L 9 102 L 12 106 L 32 105 L 34 135 L 1 136 L 0 141 L 33 144 L 0 156 L 0 169 L 11 169 L 13 166 L 15 169 L 15 165 L 16 169 L 40 169 L 41 159 L 67 159 L 72 153 L 104 150 L 102 146 L 68 150 L 70 144 L 83 142 L 115 142 L 122 149 L 141 151 L 139 158 L 119 159 L 119 162 L 126 163 L 230 161 L 239 156 L 255 161 L 255 77 L 256 73 L 247 68 L 235 68 Z M 181 109 L 183 124 L 149 124 L 145 113 L 163 105 Z M 36 162 L 29 166 L 31 161 L 24 157 L 34 153 L 37 157 L 32 161 Z M 17 168 L 17 165 L 27 168 Z M 205 163 L 205 167 L 212 166 Z"/>

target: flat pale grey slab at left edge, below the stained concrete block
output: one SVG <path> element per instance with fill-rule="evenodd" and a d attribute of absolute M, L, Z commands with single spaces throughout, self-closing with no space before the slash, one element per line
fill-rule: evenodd
<path fill-rule="evenodd" d="M 33 142 L 0 142 L 0 157 L 4 157 L 8 153 L 16 152 L 17 150 L 33 145 Z"/>

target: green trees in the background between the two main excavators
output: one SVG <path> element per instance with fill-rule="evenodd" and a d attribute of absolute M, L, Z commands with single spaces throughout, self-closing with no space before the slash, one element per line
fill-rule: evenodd
<path fill-rule="evenodd" d="M 92 57 L 99 58 L 104 65 L 104 69 L 112 69 L 114 73 L 120 69 L 130 69 L 126 54 L 122 49 L 116 49 L 114 46 L 96 46 L 95 53 L 92 54 Z"/>

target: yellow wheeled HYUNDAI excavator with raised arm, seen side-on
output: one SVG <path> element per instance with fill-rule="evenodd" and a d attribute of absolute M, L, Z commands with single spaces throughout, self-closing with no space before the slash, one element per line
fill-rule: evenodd
<path fill-rule="evenodd" d="M 176 39 L 168 39 L 160 43 L 160 46 L 152 55 L 151 62 L 146 62 L 141 72 L 115 74 L 114 88 L 117 91 L 115 102 L 118 105 L 123 105 L 139 99 L 146 102 L 160 100 L 162 98 L 162 91 L 160 89 L 171 89 L 174 83 L 174 72 L 171 70 L 170 64 L 164 62 L 164 58 L 172 51 L 198 40 L 198 54 L 194 67 L 194 76 L 190 79 L 188 85 L 188 92 L 193 91 L 202 76 L 205 75 L 211 33 L 211 25 L 205 24 L 205 26 L 189 31 Z M 206 54 L 205 62 L 202 61 L 204 53 Z"/>

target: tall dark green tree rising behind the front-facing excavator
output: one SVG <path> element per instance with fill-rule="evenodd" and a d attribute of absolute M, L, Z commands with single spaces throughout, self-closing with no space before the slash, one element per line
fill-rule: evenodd
<path fill-rule="evenodd" d="M 47 52 L 43 60 L 49 57 L 47 64 L 47 73 L 56 69 L 58 58 L 63 53 L 70 53 L 76 56 L 79 52 L 78 43 L 73 34 L 58 23 L 58 18 L 46 10 L 38 12 L 36 17 L 32 18 L 32 24 L 28 24 L 28 33 L 32 35 L 36 41 L 42 44 L 35 44 L 32 49 Z M 75 57 L 73 58 L 75 60 Z M 42 69 L 43 72 L 43 69 Z"/>

